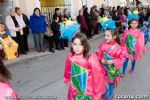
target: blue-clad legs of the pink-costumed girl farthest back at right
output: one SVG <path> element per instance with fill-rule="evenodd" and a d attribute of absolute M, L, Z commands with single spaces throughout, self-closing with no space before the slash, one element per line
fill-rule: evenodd
<path fill-rule="evenodd" d="M 125 73 L 126 73 L 126 69 L 127 69 L 127 66 L 128 66 L 128 62 L 129 62 L 129 58 L 126 58 L 126 61 L 125 61 L 124 64 L 123 64 L 122 74 L 125 74 Z M 136 60 L 133 59 L 132 62 L 131 62 L 131 71 L 134 71 L 135 63 L 136 63 Z"/>

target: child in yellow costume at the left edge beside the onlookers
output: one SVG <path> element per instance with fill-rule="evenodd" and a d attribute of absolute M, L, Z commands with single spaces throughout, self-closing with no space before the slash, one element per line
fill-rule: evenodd
<path fill-rule="evenodd" d="M 5 32 L 2 23 L 0 23 L 0 43 L 2 44 L 6 59 L 11 60 L 18 56 L 18 44 L 10 37 L 8 32 Z"/>

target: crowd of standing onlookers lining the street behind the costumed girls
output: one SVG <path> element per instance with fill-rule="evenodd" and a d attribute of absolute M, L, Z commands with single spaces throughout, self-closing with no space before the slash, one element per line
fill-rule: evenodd
<path fill-rule="evenodd" d="M 140 26 L 144 21 L 148 20 L 150 15 L 149 8 L 134 8 L 139 11 Z M 116 28 L 121 34 L 127 27 L 127 16 L 133 9 L 129 7 L 104 7 L 98 9 L 96 5 L 89 8 L 83 6 L 79 10 L 79 15 L 76 17 L 77 22 L 80 24 L 80 30 L 84 33 L 88 39 L 98 34 L 101 29 L 99 23 L 100 17 L 107 16 L 109 19 L 113 19 L 116 22 Z M 46 17 L 39 8 L 35 8 L 33 15 L 28 18 L 22 13 L 19 7 L 11 8 L 9 15 L 6 17 L 6 28 L 8 29 L 11 38 L 18 44 L 18 56 L 19 54 L 27 54 L 29 52 L 28 47 L 28 35 L 29 29 L 33 34 L 33 39 L 37 52 L 45 52 L 43 39 L 46 39 L 49 43 L 49 51 L 55 52 L 56 50 L 65 50 L 68 47 L 67 39 L 60 39 L 60 22 L 66 19 L 70 19 L 67 9 L 64 9 L 63 14 L 59 8 L 55 8 L 52 22 L 48 22 Z M 2 46 L 0 46 L 2 48 Z"/>

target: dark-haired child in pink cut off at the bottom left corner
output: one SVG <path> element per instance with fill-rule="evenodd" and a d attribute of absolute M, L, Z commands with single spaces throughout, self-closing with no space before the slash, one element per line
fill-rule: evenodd
<path fill-rule="evenodd" d="M 20 100 L 11 88 L 9 79 L 11 74 L 0 59 L 0 100 Z"/>

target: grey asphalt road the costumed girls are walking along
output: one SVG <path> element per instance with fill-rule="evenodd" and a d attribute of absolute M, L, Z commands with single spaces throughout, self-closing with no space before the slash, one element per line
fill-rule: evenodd
<path fill-rule="evenodd" d="M 95 53 L 102 35 L 90 40 L 91 52 Z M 67 85 L 63 82 L 64 64 L 69 48 L 66 50 L 49 53 L 34 59 L 22 60 L 20 63 L 7 62 L 13 79 L 10 81 L 12 87 L 23 100 L 67 100 Z M 32 55 L 30 55 L 32 56 Z M 141 61 L 136 64 L 136 71 L 133 75 L 127 73 L 121 79 L 119 86 L 115 90 L 114 100 L 120 100 L 125 96 L 146 96 L 144 99 L 150 100 L 150 44 L 147 53 Z M 128 70 L 130 68 L 130 63 Z M 30 98 L 30 99 L 29 99 Z M 37 98 L 37 99 L 35 99 Z M 44 99 L 49 98 L 49 99 Z M 51 98 L 51 99 L 50 99 Z M 128 99 L 126 99 L 128 100 Z"/>

